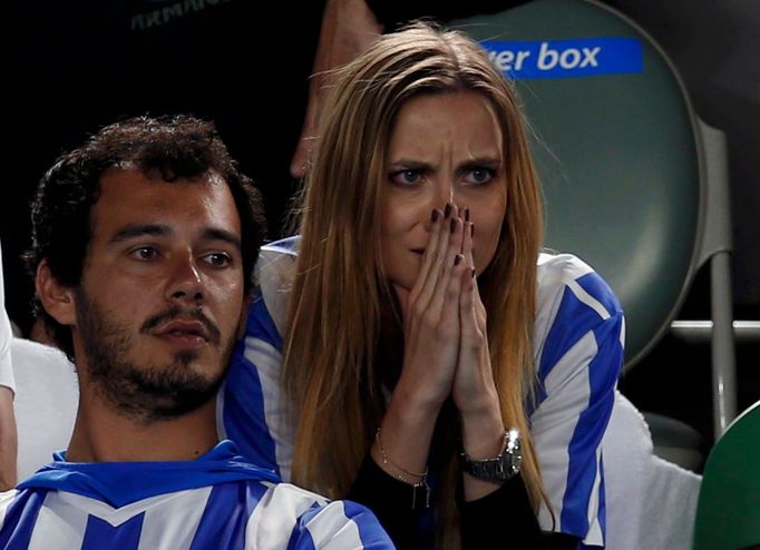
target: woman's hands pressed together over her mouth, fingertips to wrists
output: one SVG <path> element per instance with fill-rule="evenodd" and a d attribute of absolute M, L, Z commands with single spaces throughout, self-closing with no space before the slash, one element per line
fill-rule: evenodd
<path fill-rule="evenodd" d="M 431 213 L 428 245 L 405 305 L 399 380 L 418 406 L 439 410 L 450 395 L 462 420 L 498 411 L 469 217 L 452 204 Z"/>

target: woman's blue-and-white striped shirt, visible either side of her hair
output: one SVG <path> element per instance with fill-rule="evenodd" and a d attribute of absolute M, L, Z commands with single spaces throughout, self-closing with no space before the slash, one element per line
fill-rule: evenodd
<path fill-rule="evenodd" d="M 222 435 L 284 480 L 290 479 L 295 426 L 281 399 L 280 367 L 296 244 L 292 237 L 262 248 L 260 293 L 218 400 Z M 586 547 L 603 547 L 601 443 L 623 363 L 623 313 L 606 283 L 575 256 L 542 254 L 537 271 L 538 386 L 536 403 L 527 406 L 530 433 L 555 529 Z M 548 510 L 540 511 L 539 521 L 552 528 Z"/>

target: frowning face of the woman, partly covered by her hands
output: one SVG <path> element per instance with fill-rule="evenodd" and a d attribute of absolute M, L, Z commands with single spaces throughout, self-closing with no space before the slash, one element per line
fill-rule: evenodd
<path fill-rule="evenodd" d="M 490 105 L 471 91 L 407 101 L 391 134 L 382 185 L 380 248 L 400 297 L 415 285 L 433 208 L 452 203 L 475 224 L 475 269 L 490 264 L 506 210 L 504 140 Z"/>

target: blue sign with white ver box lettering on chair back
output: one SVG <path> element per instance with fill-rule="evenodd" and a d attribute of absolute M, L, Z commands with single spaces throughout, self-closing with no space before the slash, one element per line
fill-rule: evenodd
<path fill-rule="evenodd" d="M 642 43 L 635 38 L 484 40 L 480 45 L 511 79 L 624 75 L 644 70 Z"/>

